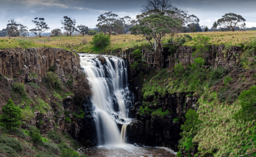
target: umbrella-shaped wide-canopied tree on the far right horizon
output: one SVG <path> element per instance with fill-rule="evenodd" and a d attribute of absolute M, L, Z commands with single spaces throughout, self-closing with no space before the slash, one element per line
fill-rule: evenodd
<path fill-rule="evenodd" d="M 222 16 L 221 19 L 218 19 L 217 23 L 219 26 L 224 26 L 235 31 L 235 28 L 239 23 L 245 22 L 246 20 L 241 15 L 236 15 L 234 13 L 228 13 Z"/>

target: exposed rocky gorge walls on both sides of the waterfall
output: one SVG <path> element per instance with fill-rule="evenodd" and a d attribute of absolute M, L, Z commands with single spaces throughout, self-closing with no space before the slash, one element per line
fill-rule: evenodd
<path fill-rule="evenodd" d="M 161 60 L 164 63 L 163 68 L 173 69 L 177 64 L 186 67 L 194 63 L 193 52 L 194 49 L 187 46 L 180 46 L 175 53 L 163 52 Z M 239 66 L 239 56 L 242 53 L 241 47 L 230 47 L 227 51 L 224 45 L 212 45 L 210 51 L 204 54 L 206 56 L 204 68 L 222 66 L 232 70 L 234 66 Z M 154 99 L 154 96 L 144 98 L 143 80 L 139 75 L 141 71 L 129 68 L 136 60 L 132 51 L 116 52 L 114 55 L 127 61 L 129 88 L 136 97 L 134 106 L 129 108 L 128 117 L 133 120 L 127 127 L 127 142 L 141 146 L 163 146 L 179 151 L 177 145 L 181 138 L 180 127 L 186 120 L 184 116 L 187 110 L 190 108 L 198 110 L 199 96 L 192 91 L 189 93 L 167 93 L 159 96 L 157 100 Z M 105 59 L 101 55 L 97 55 L 97 58 L 103 65 L 105 64 Z M 52 67 L 54 67 L 52 71 L 57 74 L 62 84 L 67 84 L 73 79 L 76 82 L 80 76 L 84 75 L 83 69 L 80 67 L 79 55 L 75 52 L 45 47 L 0 50 L 0 75 L 6 78 L 6 84 L 0 85 L 7 89 L 15 81 L 24 84 L 29 82 L 44 84 L 44 78 Z M 145 74 L 150 73 L 150 68 L 144 67 L 142 71 Z M 59 133 L 70 134 L 73 139 L 86 146 L 96 146 L 98 141 L 95 117 L 93 117 L 94 108 L 90 98 L 81 99 L 72 93 L 72 90 L 66 88 L 64 88 L 62 96 L 54 91 L 51 91 L 52 94 L 48 94 L 47 88 L 41 87 L 37 89 L 26 85 L 26 92 L 31 101 L 15 100 L 27 114 L 22 120 L 40 128 L 42 134 L 56 130 Z M 11 94 L 6 92 L 1 95 L 0 108 L 11 97 Z M 36 105 L 41 102 L 45 105 L 44 110 L 39 109 L 40 107 Z M 146 110 L 142 112 L 140 109 L 142 106 L 147 106 L 149 112 Z M 32 112 L 27 113 L 27 108 Z M 152 114 L 158 109 L 165 114 Z"/>

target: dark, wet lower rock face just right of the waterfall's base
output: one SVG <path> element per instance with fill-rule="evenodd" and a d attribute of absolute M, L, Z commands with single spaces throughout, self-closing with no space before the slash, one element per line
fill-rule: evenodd
<path fill-rule="evenodd" d="M 169 110 L 169 113 L 164 116 L 144 113 L 140 115 L 140 101 L 130 109 L 130 116 L 136 118 L 127 127 L 128 141 L 139 145 L 164 146 L 178 151 L 177 142 L 181 138 L 180 127 L 185 122 L 184 115 L 189 108 L 197 109 L 197 99 L 180 93 L 166 95 L 156 102 L 157 106 L 150 104 L 149 108 L 162 108 L 162 112 Z"/>

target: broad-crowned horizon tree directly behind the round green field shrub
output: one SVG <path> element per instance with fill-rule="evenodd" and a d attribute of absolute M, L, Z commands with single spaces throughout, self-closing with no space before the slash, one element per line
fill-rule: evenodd
<path fill-rule="evenodd" d="M 112 12 L 106 12 L 98 17 L 99 23 L 96 25 L 101 31 L 106 34 L 108 32 L 111 35 L 113 32 L 114 27 L 116 26 L 116 20 L 119 20 L 118 15 Z"/>

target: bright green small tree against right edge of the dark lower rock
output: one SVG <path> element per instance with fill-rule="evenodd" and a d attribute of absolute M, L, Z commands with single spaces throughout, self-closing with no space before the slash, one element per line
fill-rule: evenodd
<path fill-rule="evenodd" d="M 199 114 L 196 113 L 195 110 L 189 109 L 185 114 L 185 117 L 186 117 L 186 122 L 184 123 L 184 125 L 181 125 L 180 129 L 182 129 L 183 131 L 189 131 L 193 138 L 195 131 L 197 129 L 197 126 L 201 123 L 201 121 L 198 119 Z"/>

